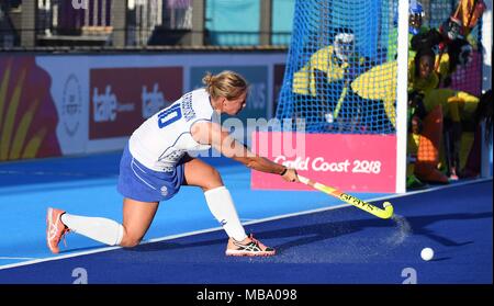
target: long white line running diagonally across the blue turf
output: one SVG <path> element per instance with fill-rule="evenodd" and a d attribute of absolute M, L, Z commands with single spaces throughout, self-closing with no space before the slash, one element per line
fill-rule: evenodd
<path fill-rule="evenodd" d="M 396 197 L 405 197 L 405 196 L 409 196 L 409 195 L 415 195 L 415 194 L 426 193 L 426 192 L 431 192 L 431 191 L 438 191 L 438 190 L 449 189 L 449 188 L 453 188 L 453 186 L 482 183 L 482 182 L 486 182 L 486 181 L 492 181 L 492 179 L 493 178 L 486 178 L 486 179 L 478 179 L 478 180 L 472 180 L 472 181 L 467 181 L 467 182 L 458 182 L 458 183 L 453 183 L 453 184 L 440 185 L 440 186 L 435 186 L 435 188 L 430 188 L 430 189 L 426 189 L 426 190 L 407 192 L 407 193 L 403 193 L 403 194 L 386 195 L 386 196 L 381 196 L 381 197 L 369 199 L 369 200 L 366 200 L 366 202 L 375 202 L 375 201 L 384 201 L 384 200 L 396 199 Z M 310 211 L 304 211 L 304 212 L 299 212 L 299 213 L 291 213 L 291 214 L 274 216 L 274 217 L 250 220 L 250 222 L 243 223 L 243 225 L 251 225 L 251 224 L 277 220 L 277 219 L 282 219 L 282 218 L 288 218 L 288 217 L 293 217 L 293 216 L 308 215 L 308 214 L 313 214 L 313 213 L 332 211 L 332 209 L 337 209 L 337 208 L 343 208 L 343 207 L 348 207 L 348 206 L 351 206 L 351 205 L 350 204 L 340 204 L 340 205 L 335 205 L 335 206 L 329 206 L 329 207 L 315 208 L 315 209 L 310 209 Z M 217 231 L 217 230 L 223 230 L 223 228 L 222 227 L 213 227 L 213 228 L 207 228 L 207 229 L 188 231 L 188 233 L 183 233 L 183 234 L 170 235 L 170 236 L 165 236 L 165 237 L 160 237 L 160 238 L 149 239 L 149 240 L 141 242 L 141 245 L 172 240 L 172 239 L 177 239 L 177 238 L 200 235 L 200 234 L 205 234 L 205 233 L 212 233 L 212 231 Z M 0 270 L 12 269 L 12 268 L 18 268 L 18 267 L 22 267 L 22 265 L 30 265 L 30 264 L 35 264 L 35 263 L 46 262 L 46 261 L 61 260 L 61 259 L 79 257 L 79 256 L 87 256 L 87 254 L 92 254 L 92 253 L 100 253 L 100 252 L 105 252 L 105 251 L 111 251 L 111 250 L 116 250 L 116 249 L 122 249 L 122 247 L 104 247 L 104 248 L 99 248 L 99 249 L 94 249 L 94 250 L 90 250 L 90 251 L 77 252 L 77 253 L 71 253 L 71 254 L 34 259 L 34 260 L 29 260 L 25 262 L 20 262 L 20 263 L 4 264 L 4 265 L 0 265 Z M 2 258 L 0 258 L 0 259 L 2 259 Z M 5 259 L 13 259 L 13 258 L 5 258 Z"/>

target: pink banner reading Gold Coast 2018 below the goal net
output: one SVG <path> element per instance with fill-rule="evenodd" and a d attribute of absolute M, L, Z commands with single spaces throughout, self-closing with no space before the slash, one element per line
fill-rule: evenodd
<path fill-rule="evenodd" d="M 252 150 L 345 192 L 395 192 L 395 135 L 289 133 L 287 137 L 285 134 L 254 133 Z M 303 184 L 287 183 L 280 175 L 254 170 L 251 188 L 311 190 Z"/>

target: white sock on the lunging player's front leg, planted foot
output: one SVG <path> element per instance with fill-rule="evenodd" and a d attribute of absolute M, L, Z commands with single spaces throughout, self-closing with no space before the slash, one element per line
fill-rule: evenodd
<path fill-rule="evenodd" d="M 215 188 L 204 192 L 207 206 L 213 216 L 220 222 L 228 237 L 237 241 L 247 238 L 244 226 L 240 224 L 237 211 L 229 191 L 225 186 Z"/>

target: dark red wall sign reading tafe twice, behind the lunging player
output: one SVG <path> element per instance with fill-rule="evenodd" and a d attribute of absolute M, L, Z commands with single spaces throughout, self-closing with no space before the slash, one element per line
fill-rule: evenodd
<path fill-rule="evenodd" d="M 89 139 L 130 136 L 183 93 L 181 67 L 91 69 Z"/>

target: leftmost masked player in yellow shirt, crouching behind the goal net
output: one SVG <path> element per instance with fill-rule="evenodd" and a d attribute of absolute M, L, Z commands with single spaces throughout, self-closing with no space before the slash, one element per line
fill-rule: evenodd
<path fill-rule="evenodd" d="M 355 120 L 363 114 L 363 105 L 349 86 L 371 64 L 356 52 L 351 30 L 338 29 L 335 33 L 333 44 L 313 54 L 293 76 L 295 116 L 303 114 L 310 129 L 321 125 L 327 128 L 335 122 L 339 127 L 353 128 Z"/>

